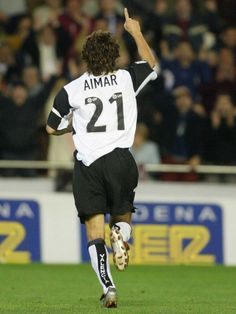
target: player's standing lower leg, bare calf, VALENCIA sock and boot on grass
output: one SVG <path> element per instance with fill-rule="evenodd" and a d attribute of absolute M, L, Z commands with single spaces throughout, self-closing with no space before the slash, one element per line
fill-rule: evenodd
<path fill-rule="evenodd" d="M 103 288 L 101 297 L 105 307 L 116 307 L 116 289 L 111 276 L 108 251 L 105 245 L 104 215 L 97 214 L 85 220 L 88 252 L 92 267 Z"/>

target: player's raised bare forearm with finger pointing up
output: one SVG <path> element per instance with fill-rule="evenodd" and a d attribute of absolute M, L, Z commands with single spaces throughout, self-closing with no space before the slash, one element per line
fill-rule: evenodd
<path fill-rule="evenodd" d="M 141 32 L 139 22 L 129 17 L 127 8 L 124 9 L 124 15 L 124 28 L 133 37 L 141 59 L 147 61 L 150 67 L 154 68 L 157 65 L 157 60 Z"/>

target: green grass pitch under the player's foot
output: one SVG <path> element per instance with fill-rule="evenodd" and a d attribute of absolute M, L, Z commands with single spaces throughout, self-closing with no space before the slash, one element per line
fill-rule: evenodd
<path fill-rule="evenodd" d="M 90 265 L 0 265 L 0 313 L 236 313 L 236 268 L 112 268 L 117 309 L 101 309 Z"/>

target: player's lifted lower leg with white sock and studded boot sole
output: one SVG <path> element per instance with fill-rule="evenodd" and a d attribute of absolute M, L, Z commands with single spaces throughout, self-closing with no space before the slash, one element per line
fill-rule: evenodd
<path fill-rule="evenodd" d="M 129 263 L 129 245 L 131 237 L 131 212 L 123 215 L 111 216 L 110 241 L 113 250 L 114 264 L 118 270 L 124 270 Z"/>

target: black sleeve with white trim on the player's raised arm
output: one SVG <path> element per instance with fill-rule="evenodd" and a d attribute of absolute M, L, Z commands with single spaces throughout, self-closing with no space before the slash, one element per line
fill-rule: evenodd
<path fill-rule="evenodd" d="M 144 88 L 149 81 L 155 80 L 159 69 L 152 69 L 146 61 L 133 63 L 128 69 L 134 86 L 135 95 Z"/>

